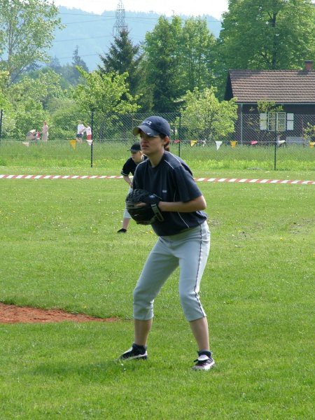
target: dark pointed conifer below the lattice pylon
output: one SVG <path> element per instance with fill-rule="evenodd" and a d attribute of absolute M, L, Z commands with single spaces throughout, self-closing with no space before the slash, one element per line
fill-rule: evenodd
<path fill-rule="evenodd" d="M 140 64 L 142 55 L 140 45 L 133 45 L 129 38 L 129 31 L 120 31 L 114 42 L 111 43 L 106 55 L 99 55 L 102 65 L 98 66 L 101 73 L 128 73 L 127 83 L 131 94 L 139 93 L 141 80 Z"/>

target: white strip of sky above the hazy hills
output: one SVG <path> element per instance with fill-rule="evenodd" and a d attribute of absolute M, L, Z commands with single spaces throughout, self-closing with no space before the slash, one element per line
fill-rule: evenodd
<path fill-rule="evenodd" d="M 120 0 L 55 0 L 56 6 L 79 8 L 101 14 L 104 10 L 116 10 Z M 228 10 L 228 0 L 122 0 L 125 11 L 156 12 L 162 15 L 211 15 L 220 19 Z"/>

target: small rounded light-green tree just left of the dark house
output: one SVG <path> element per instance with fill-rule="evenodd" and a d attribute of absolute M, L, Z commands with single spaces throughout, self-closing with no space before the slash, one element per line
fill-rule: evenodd
<path fill-rule="evenodd" d="M 235 99 L 219 102 L 215 87 L 207 87 L 202 92 L 195 88 L 193 92 L 187 92 L 184 99 L 182 124 L 193 138 L 213 141 L 234 132 L 237 120 Z"/>

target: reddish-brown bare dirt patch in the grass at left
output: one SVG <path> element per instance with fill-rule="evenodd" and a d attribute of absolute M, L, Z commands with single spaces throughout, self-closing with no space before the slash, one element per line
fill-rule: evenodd
<path fill-rule="evenodd" d="M 83 314 L 69 314 L 60 309 L 38 309 L 31 307 L 17 307 L 14 304 L 0 302 L 0 323 L 47 323 L 47 322 L 113 322 L 118 318 L 95 318 Z"/>

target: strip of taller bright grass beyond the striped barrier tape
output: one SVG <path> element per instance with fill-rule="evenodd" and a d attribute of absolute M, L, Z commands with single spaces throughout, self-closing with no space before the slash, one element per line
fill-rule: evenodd
<path fill-rule="evenodd" d="M 122 167 L 127 157 L 127 149 L 132 140 L 105 141 L 95 143 L 92 165 L 94 169 L 109 168 L 111 165 Z M 172 152 L 181 155 L 193 169 L 200 171 L 217 170 L 255 170 L 274 169 L 274 147 L 223 145 L 216 151 L 215 146 L 172 145 Z M 288 146 L 276 149 L 276 169 L 279 171 L 313 171 L 315 149 L 302 146 Z M 89 169 L 91 148 L 86 143 L 78 144 L 73 150 L 69 141 L 49 141 L 48 144 L 23 146 L 22 142 L 1 141 L 0 166 L 48 168 L 73 167 Z"/>

